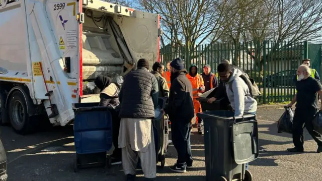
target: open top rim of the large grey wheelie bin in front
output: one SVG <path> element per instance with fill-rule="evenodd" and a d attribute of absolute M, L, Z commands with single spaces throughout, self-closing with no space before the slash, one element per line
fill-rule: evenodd
<path fill-rule="evenodd" d="M 234 112 L 229 110 L 212 110 L 212 111 L 198 112 L 197 115 L 198 117 L 201 117 L 201 118 L 233 119 Z M 250 118 L 250 117 L 255 117 L 255 115 L 245 114 L 243 116 L 235 117 L 235 119 Z"/>

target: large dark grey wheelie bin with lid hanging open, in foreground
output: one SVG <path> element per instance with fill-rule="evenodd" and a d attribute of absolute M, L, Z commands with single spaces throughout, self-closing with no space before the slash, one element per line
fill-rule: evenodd
<path fill-rule="evenodd" d="M 206 180 L 251 181 L 245 164 L 259 155 L 256 116 L 234 117 L 232 111 L 198 113 L 204 120 Z"/>

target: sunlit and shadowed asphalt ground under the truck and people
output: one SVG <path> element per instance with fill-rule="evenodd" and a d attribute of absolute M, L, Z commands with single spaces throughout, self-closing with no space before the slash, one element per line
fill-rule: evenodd
<path fill-rule="evenodd" d="M 322 153 L 317 154 L 316 144 L 306 133 L 305 153 L 286 152 L 292 147 L 289 134 L 278 134 L 276 120 L 283 113 L 282 109 L 258 110 L 260 131 L 260 157 L 250 163 L 253 180 L 288 181 L 288 180 L 322 180 Z M 1 139 L 8 157 L 8 181 L 46 181 L 46 180 L 117 180 L 123 179 L 121 166 L 107 168 L 81 169 L 73 172 L 73 137 L 72 127 L 54 129 L 48 132 L 21 136 L 10 127 L 1 127 Z M 184 174 L 173 173 L 168 167 L 157 168 L 155 180 L 205 180 L 205 158 L 203 136 L 192 134 L 192 151 L 194 168 Z M 167 158 L 167 165 L 176 161 L 173 145 L 170 146 L 173 156 Z M 143 180 L 138 171 L 138 179 Z"/>

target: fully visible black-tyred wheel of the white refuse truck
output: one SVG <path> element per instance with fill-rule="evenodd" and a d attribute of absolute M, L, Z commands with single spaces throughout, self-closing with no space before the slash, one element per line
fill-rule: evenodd
<path fill-rule="evenodd" d="M 9 105 L 9 117 L 13 129 L 21 135 L 32 132 L 33 125 L 28 115 L 27 103 L 22 92 L 13 92 L 7 105 Z"/>

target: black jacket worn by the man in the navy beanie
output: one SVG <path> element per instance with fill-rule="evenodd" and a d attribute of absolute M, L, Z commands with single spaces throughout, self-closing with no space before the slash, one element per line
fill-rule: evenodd
<path fill-rule="evenodd" d="M 169 103 L 165 108 L 172 122 L 190 123 L 194 117 L 192 85 L 183 69 L 171 75 Z"/>

